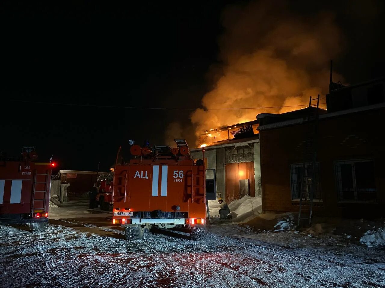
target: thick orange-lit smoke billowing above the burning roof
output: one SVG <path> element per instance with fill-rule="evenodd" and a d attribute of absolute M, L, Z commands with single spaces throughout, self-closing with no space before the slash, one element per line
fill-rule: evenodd
<path fill-rule="evenodd" d="M 305 106 L 309 96 L 321 94 L 323 98 L 327 93 L 329 60 L 341 51 L 333 15 L 323 12 L 305 18 L 280 3 L 251 2 L 224 11 L 224 33 L 219 38 L 223 65 L 213 89 L 202 99 L 204 108 Z M 197 109 L 191 122 L 198 135 L 254 120 L 258 113 L 299 108 Z"/>

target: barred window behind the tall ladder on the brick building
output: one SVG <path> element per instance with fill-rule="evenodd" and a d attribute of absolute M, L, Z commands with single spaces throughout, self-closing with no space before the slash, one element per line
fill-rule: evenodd
<path fill-rule="evenodd" d="M 311 163 L 306 163 L 305 173 L 303 173 L 303 163 L 291 164 L 290 165 L 290 179 L 291 179 L 291 197 L 293 200 L 300 199 L 300 193 L 302 189 L 302 181 L 308 181 L 311 184 Z M 321 200 L 321 181 L 320 181 L 320 163 L 315 165 L 315 187 L 313 199 Z M 310 185 L 304 185 L 306 189 L 303 192 L 310 193 Z M 307 194 L 310 195 L 310 194 Z M 306 197 L 306 194 L 303 195 Z"/>

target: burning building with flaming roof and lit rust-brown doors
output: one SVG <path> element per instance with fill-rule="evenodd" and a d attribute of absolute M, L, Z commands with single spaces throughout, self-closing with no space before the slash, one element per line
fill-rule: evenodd
<path fill-rule="evenodd" d="M 261 195 L 258 121 L 210 129 L 199 136 L 208 169 L 216 169 L 218 197 L 231 202 Z M 191 150 L 202 159 L 202 148 Z"/>

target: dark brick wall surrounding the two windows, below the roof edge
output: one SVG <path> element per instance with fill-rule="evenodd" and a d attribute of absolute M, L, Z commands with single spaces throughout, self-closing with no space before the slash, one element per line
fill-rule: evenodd
<path fill-rule="evenodd" d="M 314 207 L 315 215 L 345 217 L 385 216 L 385 145 L 382 122 L 385 109 L 320 119 L 318 154 L 323 202 Z M 290 164 L 303 160 L 305 125 L 297 124 L 260 131 L 262 209 L 298 211 L 291 199 Z M 374 159 L 377 204 L 339 202 L 334 161 Z"/>

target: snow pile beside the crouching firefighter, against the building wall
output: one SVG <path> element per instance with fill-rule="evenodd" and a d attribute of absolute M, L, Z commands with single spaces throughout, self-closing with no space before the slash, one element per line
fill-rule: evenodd
<path fill-rule="evenodd" d="M 261 197 L 245 195 L 229 204 L 230 214 L 236 221 L 249 221 L 261 214 Z"/>

